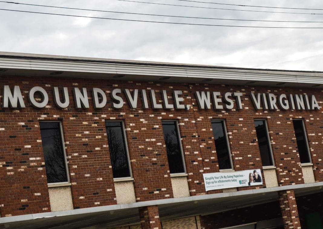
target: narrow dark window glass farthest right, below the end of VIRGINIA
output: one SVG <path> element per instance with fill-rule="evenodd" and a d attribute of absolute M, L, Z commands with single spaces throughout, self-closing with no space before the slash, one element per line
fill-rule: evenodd
<path fill-rule="evenodd" d="M 293 120 L 293 125 L 294 125 L 294 131 L 296 136 L 299 159 L 301 163 L 310 163 L 311 160 L 309 158 L 307 139 L 305 136 L 303 120 L 301 119 Z"/>

